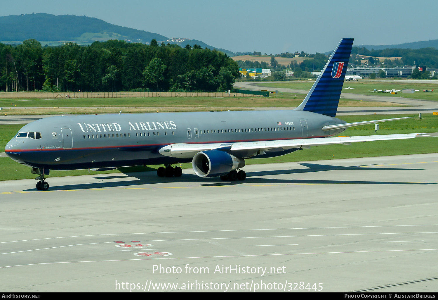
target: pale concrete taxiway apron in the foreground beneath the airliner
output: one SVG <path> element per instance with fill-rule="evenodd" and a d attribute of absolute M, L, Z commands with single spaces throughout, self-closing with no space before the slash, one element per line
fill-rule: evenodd
<path fill-rule="evenodd" d="M 437 154 L 244 169 L 0 182 L 0 291 L 437 291 Z"/>

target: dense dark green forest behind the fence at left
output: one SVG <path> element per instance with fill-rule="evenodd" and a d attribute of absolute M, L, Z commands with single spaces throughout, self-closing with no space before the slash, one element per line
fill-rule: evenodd
<path fill-rule="evenodd" d="M 223 52 L 201 46 L 120 40 L 42 47 L 35 39 L 0 43 L 1 91 L 225 92 L 240 78 Z"/>

